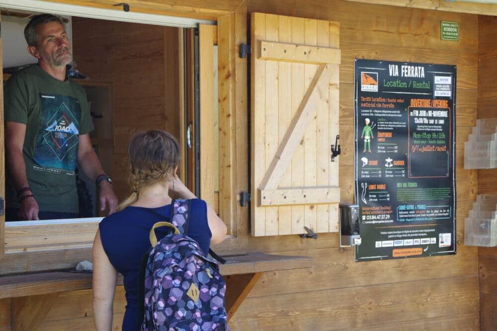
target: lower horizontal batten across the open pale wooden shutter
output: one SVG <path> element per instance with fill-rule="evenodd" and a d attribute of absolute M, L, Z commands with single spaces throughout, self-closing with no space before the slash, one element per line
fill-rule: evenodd
<path fill-rule="evenodd" d="M 317 204 L 340 201 L 340 189 L 337 186 L 312 188 L 282 188 L 277 190 L 260 190 L 260 205 L 288 205 L 288 204 Z M 328 214 L 326 215 L 328 216 Z M 326 229 L 328 232 L 328 220 Z"/>

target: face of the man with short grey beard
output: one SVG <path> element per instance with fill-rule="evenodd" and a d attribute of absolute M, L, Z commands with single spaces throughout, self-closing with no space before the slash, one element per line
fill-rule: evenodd
<path fill-rule="evenodd" d="M 36 27 L 37 47 L 34 56 L 49 66 L 66 66 L 73 61 L 69 37 L 59 22 L 39 24 Z"/>

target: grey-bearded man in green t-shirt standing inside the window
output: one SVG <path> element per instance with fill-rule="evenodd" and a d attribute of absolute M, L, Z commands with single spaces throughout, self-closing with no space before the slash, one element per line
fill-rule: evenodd
<path fill-rule="evenodd" d="M 76 167 L 100 188 L 100 206 L 117 205 L 110 179 L 93 151 L 86 94 L 66 77 L 72 62 L 60 17 L 41 14 L 24 29 L 38 64 L 14 74 L 4 88 L 7 220 L 78 217 Z"/>

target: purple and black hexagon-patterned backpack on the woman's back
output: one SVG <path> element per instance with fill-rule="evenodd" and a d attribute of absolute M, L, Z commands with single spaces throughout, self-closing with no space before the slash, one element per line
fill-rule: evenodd
<path fill-rule="evenodd" d="M 189 215 L 190 200 L 173 200 L 170 223 L 158 222 L 150 231 L 152 250 L 142 260 L 145 286 L 139 285 L 138 293 L 144 303 L 138 311 L 141 331 L 229 331 L 226 283 L 218 263 L 186 235 Z M 161 226 L 174 232 L 157 242 L 154 230 Z"/>

